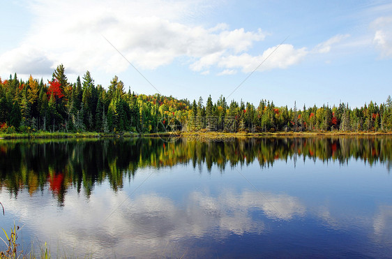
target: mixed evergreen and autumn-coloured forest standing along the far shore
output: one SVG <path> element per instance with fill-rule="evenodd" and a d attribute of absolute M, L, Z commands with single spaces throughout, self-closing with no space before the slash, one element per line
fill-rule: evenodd
<path fill-rule="evenodd" d="M 82 79 L 68 82 L 65 68 L 57 66 L 52 80 L 24 82 L 17 74 L 0 78 L 0 133 L 99 132 L 159 133 L 165 131 L 299 132 L 392 131 L 392 99 L 377 105 L 370 101 L 361 108 L 338 106 L 277 107 L 261 100 L 257 107 L 243 101 L 213 103 L 179 100 L 160 94 L 126 91 L 114 76 L 107 88 L 95 85 L 89 71 Z"/>

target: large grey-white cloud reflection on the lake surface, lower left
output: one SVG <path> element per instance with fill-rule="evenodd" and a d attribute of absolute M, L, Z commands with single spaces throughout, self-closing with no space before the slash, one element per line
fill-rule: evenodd
<path fill-rule="evenodd" d="M 43 198 L 46 195 L 50 193 Z M 179 202 L 159 193 L 127 198 L 124 192 L 96 191 L 86 202 L 70 191 L 61 211 L 49 203 L 40 209 L 43 213 L 37 212 L 36 205 L 21 196 L 13 200 L 8 210 L 19 214 L 26 227 L 33 228 L 31 232 L 41 240 L 59 238 L 66 250 L 86 247 L 94 256 L 181 257 L 191 249 L 187 246 L 192 240 L 204 237 L 224 240 L 229 235 L 249 232 L 260 234 L 266 228 L 266 218 L 288 220 L 306 213 L 298 198 L 285 194 L 263 195 L 264 198 L 248 190 L 224 189 L 217 195 L 193 191 Z M 105 220 L 121 202 L 121 208 Z M 76 256 L 84 256 L 85 252 L 84 249 L 71 251 Z"/>

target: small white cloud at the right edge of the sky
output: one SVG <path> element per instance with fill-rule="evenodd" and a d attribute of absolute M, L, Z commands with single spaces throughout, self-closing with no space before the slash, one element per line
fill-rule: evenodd
<path fill-rule="evenodd" d="M 382 58 L 392 57 L 392 17 L 379 17 L 372 23 L 375 29 L 373 43 Z"/>

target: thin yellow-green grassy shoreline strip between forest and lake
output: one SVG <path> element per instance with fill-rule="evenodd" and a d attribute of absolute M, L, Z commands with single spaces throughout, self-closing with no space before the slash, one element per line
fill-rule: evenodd
<path fill-rule="evenodd" d="M 310 138 L 336 136 L 392 136 L 392 132 L 276 132 L 276 133 L 226 133 L 226 132 L 163 132 L 163 133 L 12 133 L 0 134 L 0 140 L 10 139 L 45 139 L 45 138 L 169 138 L 169 137 L 197 137 L 197 138 Z"/>

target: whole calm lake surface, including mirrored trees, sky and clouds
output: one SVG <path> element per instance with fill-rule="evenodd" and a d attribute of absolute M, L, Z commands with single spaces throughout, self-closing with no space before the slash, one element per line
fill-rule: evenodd
<path fill-rule="evenodd" d="M 391 258 L 391 168 L 384 137 L 1 140 L 0 227 L 59 257 Z"/>

